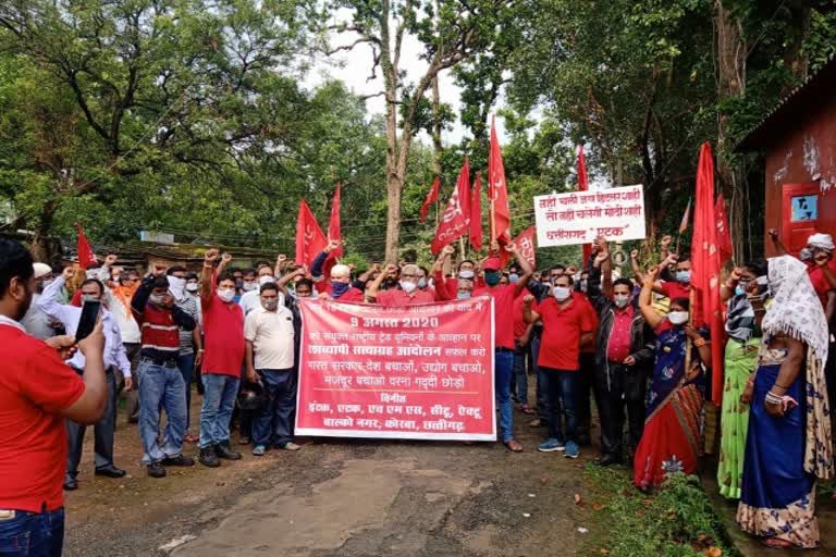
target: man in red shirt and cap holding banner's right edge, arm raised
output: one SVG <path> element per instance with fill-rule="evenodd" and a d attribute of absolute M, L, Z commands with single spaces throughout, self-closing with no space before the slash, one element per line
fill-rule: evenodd
<path fill-rule="evenodd" d="M 514 453 L 522 450 L 522 445 L 514 438 L 514 414 L 511 400 L 511 374 L 514 369 L 514 300 L 522 293 L 533 270 L 528 260 L 522 257 L 514 244 L 504 248 L 514 255 L 522 269 L 522 275 L 516 284 L 500 285 L 502 278 L 502 262 L 497 257 L 489 257 L 484 270 L 484 286 L 474 289 L 472 296 L 490 296 L 494 302 L 494 383 L 496 385 L 496 401 L 500 408 L 500 430 L 502 443 Z M 491 251 L 499 251 L 499 244 L 491 245 Z"/>

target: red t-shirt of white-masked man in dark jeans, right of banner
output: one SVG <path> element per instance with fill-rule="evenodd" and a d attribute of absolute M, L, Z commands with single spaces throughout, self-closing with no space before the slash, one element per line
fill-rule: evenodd
<path fill-rule="evenodd" d="M 571 304 L 561 308 L 557 300 L 550 297 L 537 307 L 537 312 L 543 322 L 537 363 L 555 370 L 577 371 L 580 367 L 580 335 L 595 329 L 582 301 L 573 298 Z"/>

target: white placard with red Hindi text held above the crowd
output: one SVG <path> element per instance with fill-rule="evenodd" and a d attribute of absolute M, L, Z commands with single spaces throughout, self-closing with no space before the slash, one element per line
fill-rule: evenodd
<path fill-rule="evenodd" d="M 598 236 L 614 242 L 642 239 L 642 186 L 537 196 L 534 222 L 541 248 L 588 244 Z"/>

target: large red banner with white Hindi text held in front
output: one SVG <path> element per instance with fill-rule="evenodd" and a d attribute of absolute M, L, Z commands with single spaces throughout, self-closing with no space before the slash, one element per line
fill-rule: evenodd
<path fill-rule="evenodd" d="M 492 298 L 299 309 L 298 435 L 496 440 Z"/>

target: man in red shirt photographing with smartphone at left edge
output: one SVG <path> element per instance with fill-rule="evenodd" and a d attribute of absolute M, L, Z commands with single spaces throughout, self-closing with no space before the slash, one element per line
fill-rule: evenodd
<path fill-rule="evenodd" d="M 0 239 L 0 553 L 9 555 L 3 549 L 10 547 L 12 555 L 60 556 L 64 420 L 93 425 L 104 412 L 104 334 L 99 323 L 78 343 L 85 357 L 79 377 L 62 361 L 75 349 L 73 337 L 39 341 L 20 324 L 34 293 L 32 256 Z"/>

